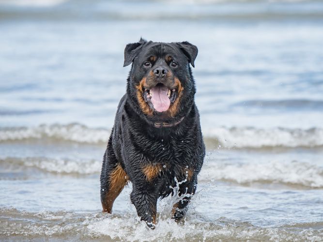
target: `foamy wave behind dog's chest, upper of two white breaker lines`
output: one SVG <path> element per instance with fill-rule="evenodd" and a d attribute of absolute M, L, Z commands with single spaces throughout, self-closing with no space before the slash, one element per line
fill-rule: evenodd
<path fill-rule="evenodd" d="M 36 127 L 0 128 L 0 143 L 6 142 L 77 142 L 106 144 L 109 129 L 90 128 L 82 124 L 52 124 Z M 216 127 L 203 129 L 206 145 L 210 148 L 317 148 L 323 147 L 323 129 L 288 129 L 254 127 Z"/>

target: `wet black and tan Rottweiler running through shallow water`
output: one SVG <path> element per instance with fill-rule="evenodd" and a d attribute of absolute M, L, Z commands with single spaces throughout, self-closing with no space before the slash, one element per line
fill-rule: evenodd
<path fill-rule="evenodd" d="M 158 43 L 140 39 L 124 50 L 132 63 L 108 140 L 101 171 L 101 202 L 111 213 L 116 197 L 131 181 L 131 201 L 138 216 L 154 228 L 157 199 L 173 193 L 192 195 L 205 155 L 198 109 L 194 103 L 194 67 L 198 54 L 188 42 Z M 174 204 L 179 221 L 190 196 Z"/>

